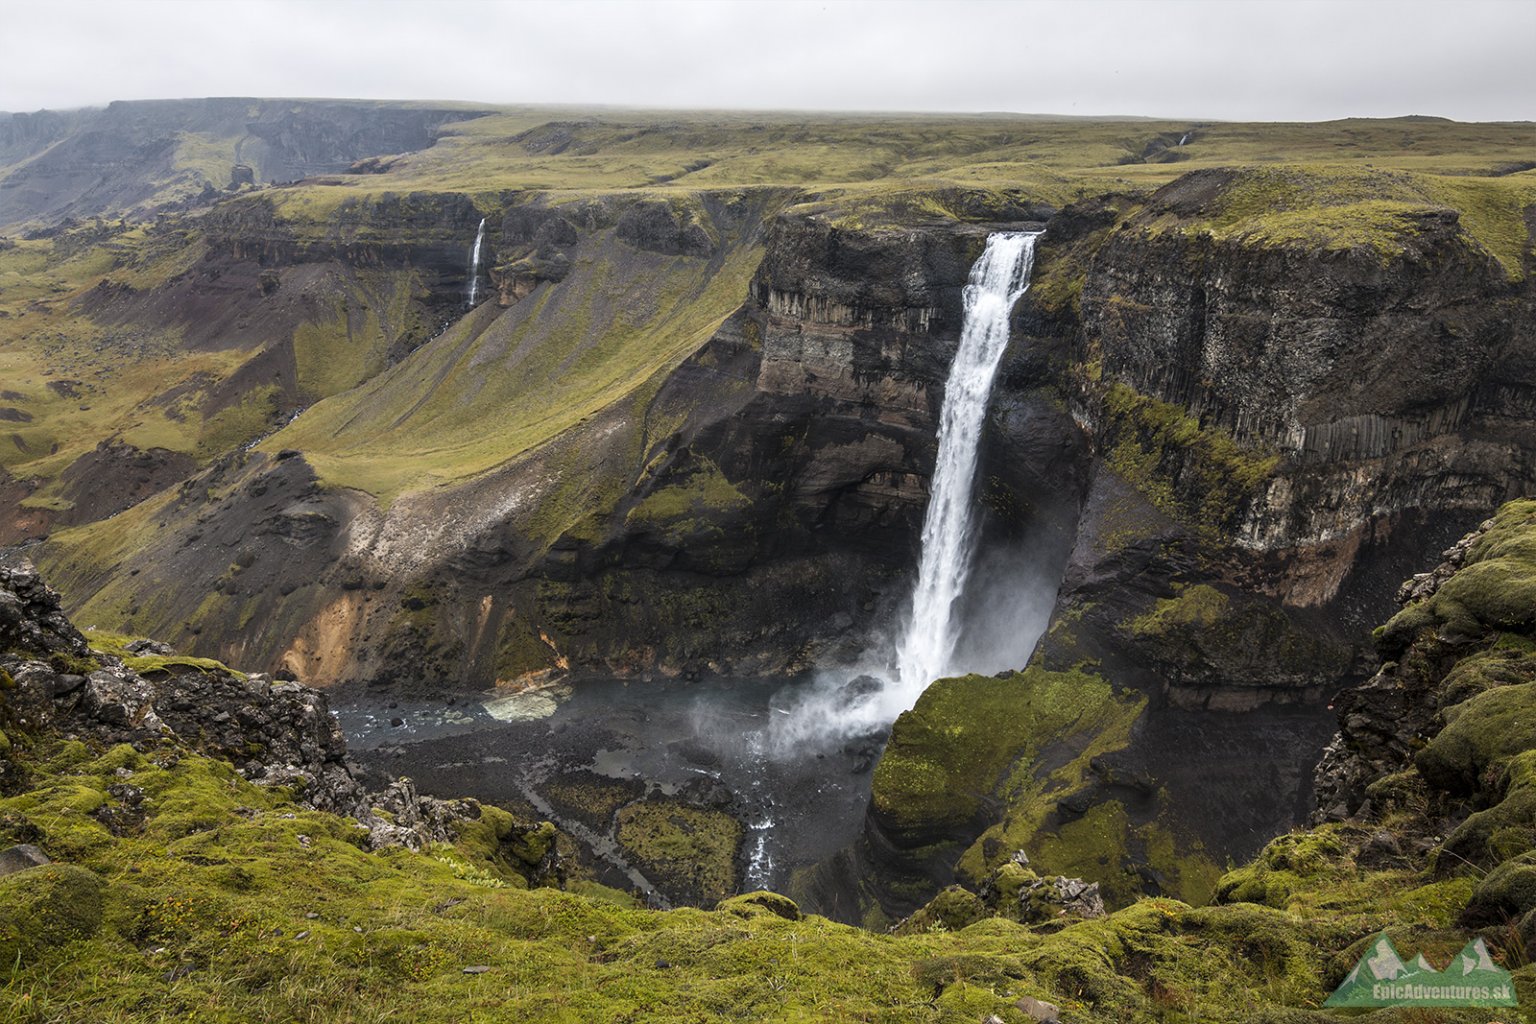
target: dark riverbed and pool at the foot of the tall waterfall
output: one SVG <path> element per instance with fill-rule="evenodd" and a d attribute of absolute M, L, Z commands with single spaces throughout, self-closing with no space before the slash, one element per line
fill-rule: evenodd
<path fill-rule="evenodd" d="M 379 775 L 531 806 L 604 883 L 656 904 L 705 903 L 783 890 L 863 829 L 880 738 L 788 742 L 774 728 L 809 685 L 585 679 L 452 705 L 352 691 L 333 709 Z"/>

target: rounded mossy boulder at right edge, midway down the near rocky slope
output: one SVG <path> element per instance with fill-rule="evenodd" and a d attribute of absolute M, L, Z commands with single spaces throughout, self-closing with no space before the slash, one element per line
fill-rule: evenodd
<path fill-rule="evenodd" d="M 1439 789 L 1478 792 L 1490 768 L 1536 749 L 1536 683 L 1498 686 L 1442 714 L 1445 728 L 1415 757 L 1424 778 Z"/>

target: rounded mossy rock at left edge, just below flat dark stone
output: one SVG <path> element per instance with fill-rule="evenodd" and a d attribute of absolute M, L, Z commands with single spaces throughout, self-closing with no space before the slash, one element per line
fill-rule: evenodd
<path fill-rule="evenodd" d="M 101 927 L 106 884 L 84 867 L 43 864 L 0 878 L 0 961 L 40 960 Z"/>

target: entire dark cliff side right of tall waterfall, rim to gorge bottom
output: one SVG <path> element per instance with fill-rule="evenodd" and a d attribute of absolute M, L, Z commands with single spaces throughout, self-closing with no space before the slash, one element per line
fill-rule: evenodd
<path fill-rule="evenodd" d="M 1396 582 L 1536 487 L 1518 398 L 1528 284 L 1452 210 L 1405 216 L 1385 252 L 1223 235 L 1203 218 L 1232 187 L 1206 172 L 1063 210 L 1003 375 L 1058 388 L 1094 451 L 1034 668 L 1091 669 L 1149 703 L 1054 806 L 1000 769 L 977 783 L 995 811 L 892 827 L 877 775 L 863 857 L 888 877 L 942 883 L 954 866 L 978 884 L 1017 844 L 1111 894 L 1140 872 L 1132 889 L 1198 897 L 1206 858 L 1247 857 L 1307 814 L 1324 705 L 1373 671 L 1366 637 Z M 955 728 L 938 706 L 912 714 Z M 902 806 L 900 778 L 883 785 Z M 1077 846 L 1107 806 L 1124 820 Z M 909 906 L 894 889 L 882 903 Z"/>

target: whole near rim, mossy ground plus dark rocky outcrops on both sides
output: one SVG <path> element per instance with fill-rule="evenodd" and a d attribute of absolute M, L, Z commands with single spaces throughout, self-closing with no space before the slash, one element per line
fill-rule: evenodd
<path fill-rule="evenodd" d="M 1402 666 L 1384 674 L 1401 685 L 1361 689 L 1333 748 L 1336 765 L 1364 766 L 1344 775 L 1350 792 L 1364 786 L 1369 808 L 1275 838 L 1220 880 L 1210 906 L 1160 897 L 1104 913 L 1092 886 L 1041 877 L 1014 855 L 980 892 L 943 892 L 895 935 L 806 917 L 766 892 L 710 912 L 656 912 L 558 874 L 527 889 L 556 838 L 547 827 L 521 832 L 493 808 L 453 815 L 452 844 L 370 849 L 379 824 L 409 835 L 409 804 L 381 801 L 375 831 L 359 829 L 306 806 L 290 783 L 253 785 L 252 765 L 226 760 L 264 763 L 249 742 L 292 735 L 269 734 L 250 712 L 293 708 L 323 726 L 321 694 L 273 688 L 270 705 L 226 706 L 220 694 L 243 688 L 249 702 L 260 682 L 146 654 L 141 642 L 131 656 L 140 668 L 129 669 L 89 652 L 35 576 L 6 571 L 0 843 L 12 846 L 0 852 L 0 949 L 12 983 L 0 1006 L 18 1019 L 167 1010 L 561 1019 L 573 1009 L 682 1019 L 728 1006 L 760 1019 L 1309 1022 L 1335 1019 L 1318 1009 L 1322 998 L 1382 933 L 1432 967 L 1470 950 L 1468 966 L 1485 963 L 1510 987 L 1505 1006 L 1528 1003 L 1533 605 L 1505 585 L 1530 576 L 1533 516 L 1528 500 L 1502 508 L 1404 586 L 1402 611 L 1379 634 Z M 88 657 L 89 677 L 72 674 Z M 152 708 L 75 695 L 101 694 L 108 680 Z M 998 682 L 994 694 L 1006 689 Z M 1029 685 L 1048 682 L 1034 674 Z M 1396 715 L 1381 700 L 1390 691 L 1422 731 L 1415 752 L 1381 758 L 1366 737 Z M 192 706 L 180 708 L 178 694 Z M 925 705 L 943 694 L 931 689 Z M 37 706 L 51 708 L 51 723 L 18 722 Z M 1075 714 L 1054 700 L 1046 709 L 1057 722 Z M 161 711 L 184 712 L 186 726 L 157 726 Z M 247 745 L 218 751 L 220 740 L 198 735 L 232 728 L 247 729 Z M 324 740 L 316 749 L 339 752 Z M 1488 1010 L 1435 1015 L 1471 1024 Z"/>

